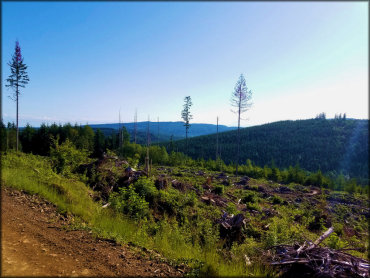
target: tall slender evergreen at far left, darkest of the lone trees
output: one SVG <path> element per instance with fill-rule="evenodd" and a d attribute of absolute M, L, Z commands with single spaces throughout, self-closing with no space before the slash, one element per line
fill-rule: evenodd
<path fill-rule="evenodd" d="M 23 57 L 21 53 L 21 47 L 19 46 L 19 42 L 15 42 L 15 50 L 12 56 L 12 60 L 8 63 L 10 66 L 11 74 L 6 79 L 8 84 L 6 87 L 10 87 L 14 90 L 14 93 L 10 96 L 12 100 L 16 102 L 16 114 L 17 114 L 17 139 L 16 139 L 16 149 L 18 151 L 18 144 L 19 144 L 19 128 L 18 128 L 18 119 L 19 119 L 19 88 L 24 88 L 26 84 L 30 81 L 27 74 L 27 66 L 23 62 Z"/>

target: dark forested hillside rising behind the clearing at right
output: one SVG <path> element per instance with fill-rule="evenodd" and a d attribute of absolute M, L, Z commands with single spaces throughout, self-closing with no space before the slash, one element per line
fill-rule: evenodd
<path fill-rule="evenodd" d="M 191 128 L 190 128 L 191 129 Z M 241 129 L 241 163 L 250 159 L 264 166 L 301 168 L 368 178 L 368 120 L 310 119 L 281 121 Z M 237 131 L 219 134 L 219 153 L 234 162 Z M 168 151 L 185 152 L 185 140 L 163 144 Z M 215 159 L 216 134 L 189 139 L 193 158 Z M 272 165 L 274 164 L 274 165 Z M 363 180 L 364 182 L 364 180 Z"/>

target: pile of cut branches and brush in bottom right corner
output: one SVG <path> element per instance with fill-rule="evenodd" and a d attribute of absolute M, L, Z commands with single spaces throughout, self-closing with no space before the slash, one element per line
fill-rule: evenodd
<path fill-rule="evenodd" d="M 370 277 L 368 261 L 354 257 L 345 250 L 318 245 L 333 232 L 329 228 L 314 243 L 277 245 L 269 249 L 271 265 L 282 267 L 285 277 Z M 347 249 L 348 250 L 348 249 Z"/>

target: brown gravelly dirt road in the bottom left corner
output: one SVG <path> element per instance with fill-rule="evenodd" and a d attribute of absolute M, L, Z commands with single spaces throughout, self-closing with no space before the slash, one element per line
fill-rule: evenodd
<path fill-rule="evenodd" d="M 1 276 L 182 276 L 158 254 L 66 230 L 55 206 L 1 189 Z"/>

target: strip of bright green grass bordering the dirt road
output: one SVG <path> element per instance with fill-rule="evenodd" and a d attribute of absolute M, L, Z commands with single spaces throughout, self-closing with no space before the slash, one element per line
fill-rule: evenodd
<path fill-rule="evenodd" d="M 145 221 L 134 221 L 102 208 L 90 197 L 91 189 L 77 177 L 67 179 L 57 175 L 46 157 L 14 152 L 2 154 L 2 184 L 47 199 L 61 212 L 86 223 L 95 235 L 156 250 L 170 261 L 187 262 L 194 268 L 194 275 L 266 277 L 273 273 L 258 263 L 247 267 L 242 255 L 239 259 L 225 259 L 217 251 L 217 244 L 202 248 L 193 245 L 176 225 L 163 224 L 166 221 L 154 236 L 148 235 Z"/>

